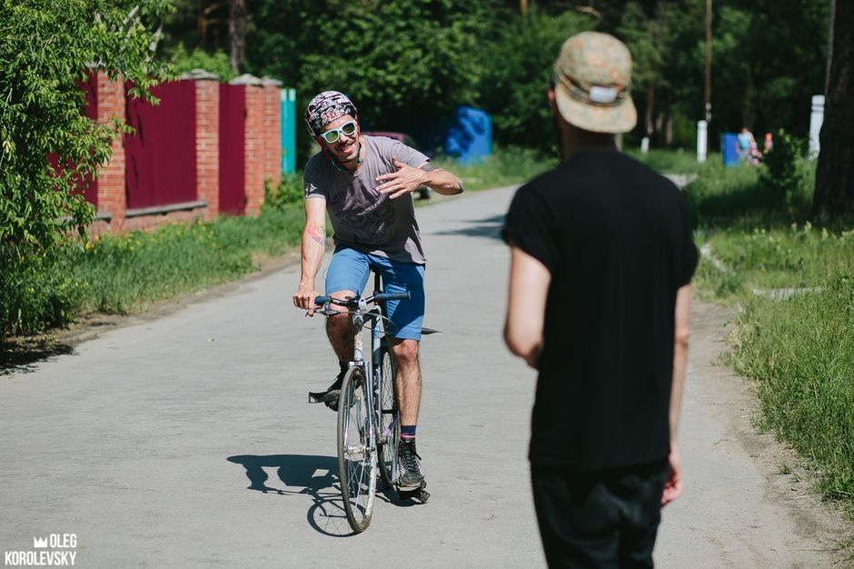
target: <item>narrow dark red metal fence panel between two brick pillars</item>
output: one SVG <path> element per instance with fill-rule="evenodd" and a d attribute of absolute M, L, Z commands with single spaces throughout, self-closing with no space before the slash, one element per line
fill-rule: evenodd
<path fill-rule="evenodd" d="M 220 213 L 243 215 L 246 208 L 245 157 L 246 88 L 220 85 Z"/>

